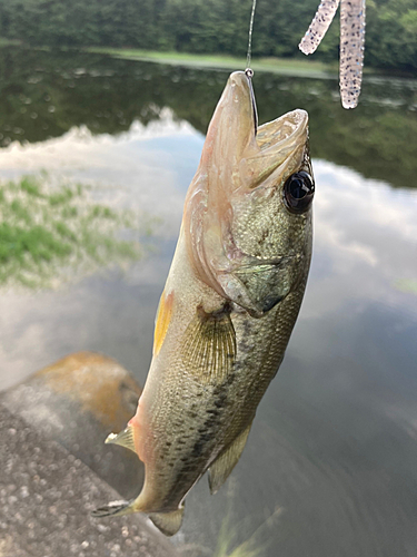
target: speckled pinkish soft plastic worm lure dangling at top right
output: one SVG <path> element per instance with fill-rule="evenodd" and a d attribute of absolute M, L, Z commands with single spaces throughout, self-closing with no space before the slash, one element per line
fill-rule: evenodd
<path fill-rule="evenodd" d="M 320 45 L 340 0 L 321 0 L 310 27 L 299 43 L 305 55 Z M 340 1 L 340 97 L 344 108 L 358 104 L 365 49 L 365 0 Z"/>

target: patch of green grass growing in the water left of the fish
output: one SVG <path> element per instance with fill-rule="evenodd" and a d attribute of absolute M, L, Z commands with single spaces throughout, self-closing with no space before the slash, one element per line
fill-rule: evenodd
<path fill-rule="evenodd" d="M 93 203 L 88 187 L 51 187 L 48 176 L 0 183 L 0 285 L 44 287 L 142 255 L 138 236 L 152 223 Z"/>

